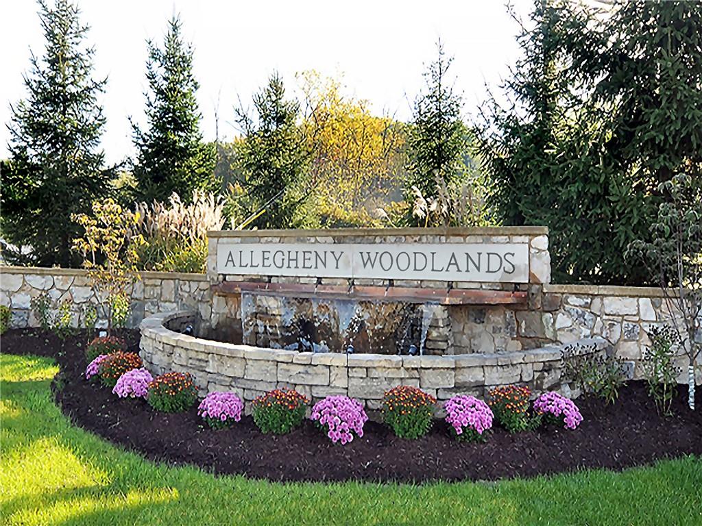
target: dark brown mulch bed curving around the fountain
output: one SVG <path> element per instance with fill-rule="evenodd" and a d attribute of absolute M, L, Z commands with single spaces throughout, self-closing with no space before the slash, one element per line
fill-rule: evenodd
<path fill-rule="evenodd" d="M 138 332 L 125 334 L 137 349 Z M 656 459 L 702 455 L 702 409 L 687 407 L 679 386 L 673 417 L 661 418 L 642 382 L 630 382 L 615 405 L 580 398 L 584 422 L 575 431 L 560 427 L 510 435 L 496 428 L 485 444 L 453 440 L 444 422 L 419 440 L 402 440 L 376 422 L 363 438 L 333 445 L 312 422 L 285 436 L 258 431 L 251 417 L 231 429 L 211 431 L 197 409 L 162 414 L 142 400 L 119 399 L 86 382 L 85 335 L 61 341 L 39 330 L 10 330 L 1 351 L 50 356 L 60 364 L 62 386 L 55 400 L 72 422 L 112 443 L 171 464 L 193 464 L 217 474 L 293 480 L 370 480 L 420 483 L 429 480 L 496 480 L 577 471 L 621 470 Z M 80 347 L 79 347 L 80 346 Z M 702 404 L 702 389 L 697 398 Z"/>

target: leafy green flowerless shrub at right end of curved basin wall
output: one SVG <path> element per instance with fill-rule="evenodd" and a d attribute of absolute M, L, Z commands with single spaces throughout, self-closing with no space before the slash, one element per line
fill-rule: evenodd
<path fill-rule="evenodd" d="M 567 346 L 563 351 L 563 375 L 583 391 L 609 404 L 619 397 L 626 385 L 624 363 L 616 356 L 595 353 L 594 346 Z"/>

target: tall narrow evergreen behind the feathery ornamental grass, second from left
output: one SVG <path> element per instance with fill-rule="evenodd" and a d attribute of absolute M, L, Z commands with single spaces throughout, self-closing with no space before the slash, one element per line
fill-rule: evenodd
<path fill-rule="evenodd" d="M 147 46 L 148 129 L 132 123 L 138 149 L 133 167 L 136 194 L 145 201 L 165 201 L 175 191 L 189 202 L 193 190 L 219 187 L 215 146 L 204 143 L 199 130 L 202 115 L 195 98 L 199 84 L 192 73 L 192 46 L 183 41 L 178 17 L 168 22 L 163 49 L 152 41 Z"/>

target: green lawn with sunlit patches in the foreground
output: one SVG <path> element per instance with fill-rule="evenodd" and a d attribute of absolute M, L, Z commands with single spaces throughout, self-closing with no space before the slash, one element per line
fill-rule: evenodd
<path fill-rule="evenodd" d="M 0 355 L 0 517 L 22 525 L 692 525 L 702 459 L 500 483 L 274 484 L 153 464 L 72 426 L 46 358 Z"/>

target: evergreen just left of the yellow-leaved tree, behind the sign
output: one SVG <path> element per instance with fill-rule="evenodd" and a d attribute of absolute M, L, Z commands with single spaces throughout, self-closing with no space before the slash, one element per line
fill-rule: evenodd
<path fill-rule="evenodd" d="M 298 127 L 300 104 L 285 99 L 283 81 L 274 73 L 268 85 L 253 96 L 256 120 L 243 109 L 237 121 L 246 139 L 241 145 L 240 163 L 244 185 L 258 214 L 252 226 L 293 228 L 303 223 L 299 210 L 309 196 L 307 167 L 309 153 Z"/>

